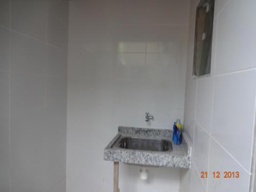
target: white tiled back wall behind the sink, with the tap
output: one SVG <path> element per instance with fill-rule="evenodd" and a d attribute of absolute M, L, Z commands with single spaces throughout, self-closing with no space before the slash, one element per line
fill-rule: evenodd
<path fill-rule="evenodd" d="M 183 120 L 189 1 L 72 1 L 67 191 L 112 191 L 103 148 L 118 125 Z M 155 121 L 148 125 L 144 113 Z M 178 191 L 179 169 L 120 165 L 121 191 Z"/>

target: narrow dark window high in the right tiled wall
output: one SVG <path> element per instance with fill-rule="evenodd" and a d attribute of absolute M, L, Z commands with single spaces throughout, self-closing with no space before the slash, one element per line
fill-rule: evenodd
<path fill-rule="evenodd" d="M 197 7 L 193 75 L 210 74 L 215 0 L 201 0 Z"/>

